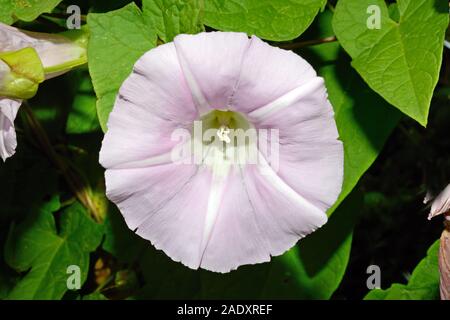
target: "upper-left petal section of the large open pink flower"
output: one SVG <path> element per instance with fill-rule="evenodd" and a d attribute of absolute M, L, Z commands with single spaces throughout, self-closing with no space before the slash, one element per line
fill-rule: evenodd
<path fill-rule="evenodd" d="M 175 47 L 161 45 L 137 61 L 120 88 L 100 163 L 111 168 L 168 153 L 179 143 L 172 133 L 190 130 L 196 117 Z"/>

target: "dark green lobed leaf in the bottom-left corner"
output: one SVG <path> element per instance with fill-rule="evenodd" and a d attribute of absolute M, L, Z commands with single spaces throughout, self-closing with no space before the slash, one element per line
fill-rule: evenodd
<path fill-rule="evenodd" d="M 60 213 L 58 228 L 53 213 L 59 207 L 59 199 L 54 197 L 10 230 L 5 260 L 13 269 L 26 274 L 8 299 L 62 298 L 67 291 L 70 265 L 80 267 L 81 283 L 86 280 L 89 253 L 99 245 L 102 228 L 78 203 Z"/>

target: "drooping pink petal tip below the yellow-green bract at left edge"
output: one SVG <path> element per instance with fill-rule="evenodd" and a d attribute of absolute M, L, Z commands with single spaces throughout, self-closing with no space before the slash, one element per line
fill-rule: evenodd
<path fill-rule="evenodd" d="M 5 161 L 16 152 L 14 119 L 22 101 L 0 97 L 0 157 Z"/>

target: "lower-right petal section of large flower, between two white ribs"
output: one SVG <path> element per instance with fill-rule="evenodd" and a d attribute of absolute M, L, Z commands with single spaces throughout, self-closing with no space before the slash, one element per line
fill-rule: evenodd
<path fill-rule="evenodd" d="M 285 184 L 266 164 L 233 169 L 201 267 L 229 272 L 270 261 L 327 221 L 327 216 Z"/>

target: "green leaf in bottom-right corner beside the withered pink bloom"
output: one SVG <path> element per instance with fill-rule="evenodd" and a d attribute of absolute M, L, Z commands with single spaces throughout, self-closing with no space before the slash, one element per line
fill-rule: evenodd
<path fill-rule="evenodd" d="M 393 284 L 386 290 L 374 289 L 366 300 L 435 300 L 439 299 L 439 243 L 437 240 L 427 256 L 414 269 L 408 284 Z"/>

